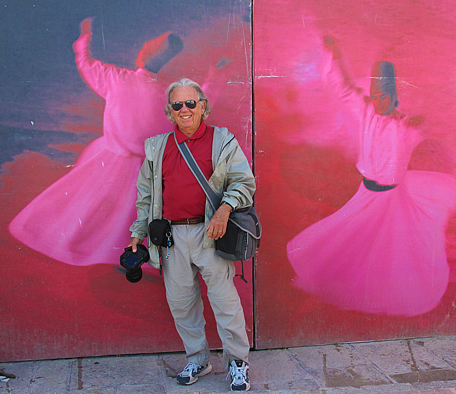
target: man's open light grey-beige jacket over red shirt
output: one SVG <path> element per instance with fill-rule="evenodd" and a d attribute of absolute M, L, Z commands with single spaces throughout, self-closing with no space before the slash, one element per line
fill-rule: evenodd
<path fill-rule="evenodd" d="M 146 159 L 141 166 L 136 183 L 138 200 L 136 201 L 137 219 L 130 227 L 131 236 L 144 239 L 147 236 L 149 223 L 162 219 L 162 160 L 168 136 L 172 132 L 156 135 L 146 139 L 144 149 Z M 212 166 L 214 173 L 209 183 L 222 201 L 228 202 L 234 209 L 252 205 L 255 193 L 255 178 L 250 165 L 233 134 L 226 128 L 215 127 L 212 141 Z M 206 199 L 205 226 L 214 215 L 211 204 Z M 159 247 L 148 242 L 149 264 L 160 267 Z M 215 242 L 204 236 L 203 247 L 214 248 Z"/>

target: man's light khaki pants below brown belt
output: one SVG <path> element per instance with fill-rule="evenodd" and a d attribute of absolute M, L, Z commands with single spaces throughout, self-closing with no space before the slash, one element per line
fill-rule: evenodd
<path fill-rule="evenodd" d="M 209 362 L 203 302 L 198 271 L 207 286 L 217 331 L 223 344 L 223 362 L 228 370 L 233 359 L 248 363 L 249 340 L 244 311 L 233 284 L 233 262 L 222 259 L 213 248 L 203 248 L 204 223 L 172 226 L 174 245 L 162 248 L 166 299 L 174 323 L 184 342 L 187 360 L 199 365 Z"/>

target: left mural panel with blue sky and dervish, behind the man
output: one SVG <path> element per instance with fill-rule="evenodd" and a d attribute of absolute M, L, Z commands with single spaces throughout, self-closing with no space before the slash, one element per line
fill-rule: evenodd
<path fill-rule="evenodd" d="M 182 350 L 159 271 L 143 266 L 132 284 L 119 256 L 144 139 L 173 130 L 171 82 L 200 83 L 207 124 L 228 127 L 252 157 L 250 2 L 0 6 L 0 360 Z M 252 341 L 251 266 L 249 283 L 235 283 Z"/>

